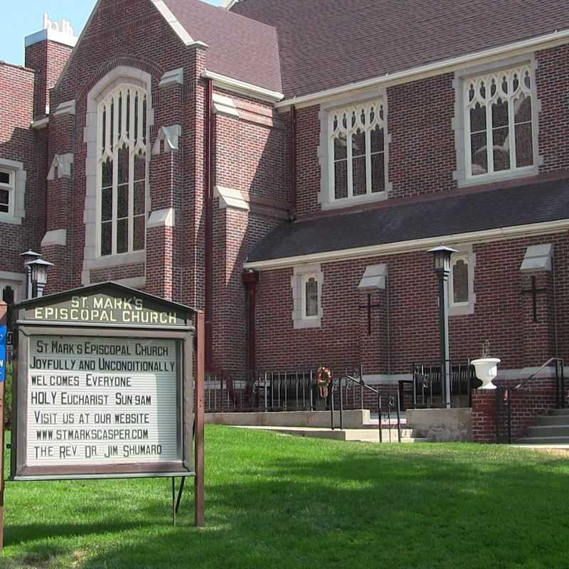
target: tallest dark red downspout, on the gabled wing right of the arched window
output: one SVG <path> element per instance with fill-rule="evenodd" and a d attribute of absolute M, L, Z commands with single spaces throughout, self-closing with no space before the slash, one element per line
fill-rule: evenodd
<path fill-rule="evenodd" d="M 213 307 L 211 301 L 213 298 L 213 159 L 212 159 L 212 137 L 213 137 L 213 82 L 211 79 L 206 80 L 206 156 L 204 164 L 204 208 L 206 213 L 205 219 L 205 317 L 206 317 L 206 368 L 211 369 L 213 366 Z"/>

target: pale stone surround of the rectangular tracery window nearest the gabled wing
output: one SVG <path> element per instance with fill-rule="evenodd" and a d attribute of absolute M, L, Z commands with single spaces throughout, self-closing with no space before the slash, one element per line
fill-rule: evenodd
<path fill-rule="evenodd" d="M 332 119 L 334 112 L 344 109 L 345 107 L 365 106 L 381 100 L 383 105 L 383 167 L 385 169 L 385 191 L 377 193 L 366 193 L 361 196 L 351 196 L 348 198 L 335 198 L 334 188 L 334 140 L 332 138 Z M 371 203 L 383 201 L 388 198 L 388 193 L 392 188 L 392 184 L 388 181 L 389 173 L 389 145 L 391 136 L 388 133 L 388 98 L 387 90 L 384 88 L 368 90 L 358 94 L 342 97 L 333 102 L 326 102 L 320 105 L 320 144 L 318 147 L 318 156 L 320 164 L 320 191 L 318 193 L 318 202 L 323 210 L 334 208 L 346 208 L 357 206 L 361 203 Z M 366 145 L 366 151 L 371 151 L 369 144 Z M 368 188 L 369 189 L 369 188 Z"/>

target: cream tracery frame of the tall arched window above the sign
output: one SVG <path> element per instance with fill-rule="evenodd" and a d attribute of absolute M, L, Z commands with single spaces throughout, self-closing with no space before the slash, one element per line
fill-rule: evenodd
<path fill-rule="evenodd" d="M 110 110 L 110 102 L 112 99 L 119 100 L 119 94 L 126 94 L 127 92 L 136 92 L 139 95 L 144 95 L 147 107 L 147 116 L 144 117 L 143 110 L 144 105 L 142 100 L 139 102 L 138 106 L 138 117 L 136 120 L 138 122 L 138 132 L 137 137 L 132 136 L 132 125 L 134 124 L 134 100 L 130 102 L 130 117 L 129 121 L 131 124 L 131 135 L 127 137 L 124 128 L 124 117 L 127 114 L 127 97 L 122 97 L 122 132 L 118 132 L 118 122 L 119 122 L 119 105 L 114 105 L 114 127 L 115 132 L 110 132 L 108 125 L 110 124 L 110 119 L 107 115 L 107 127 L 105 129 L 105 141 L 103 141 L 103 127 L 102 127 L 102 117 L 103 111 L 105 109 Z M 134 98 L 134 97 L 133 97 Z M 106 259 L 109 257 L 120 257 L 122 255 L 132 255 L 136 252 L 144 252 L 146 250 L 146 226 L 148 223 L 148 194 L 149 194 L 149 126 L 148 126 L 148 104 L 149 98 L 144 87 L 139 85 L 133 85 L 132 83 L 125 82 L 121 83 L 112 90 L 108 90 L 105 97 L 98 105 L 97 109 L 97 148 L 99 149 L 98 163 L 97 163 L 97 258 Z M 146 129 L 143 129 L 143 125 L 146 124 Z M 124 252 L 117 252 L 117 241 L 118 241 L 118 166 L 119 166 L 119 150 L 125 146 L 128 153 L 128 243 L 127 250 Z M 134 156 L 139 152 L 144 153 L 145 165 L 145 186 L 144 186 L 144 247 L 142 249 L 134 250 Z M 110 159 L 112 161 L 112 217 L 111 217 L 111 252 L 109 255 L 102 255 L 102 164 Z M 121 218 L 122 219 L 122 218 Z"/>

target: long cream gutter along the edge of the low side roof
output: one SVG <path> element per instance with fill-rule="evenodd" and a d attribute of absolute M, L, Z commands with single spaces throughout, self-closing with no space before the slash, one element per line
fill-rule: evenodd
<path fill-rule="evenodd" d="M 548 235 L 569 230 L 569 219 L 546 221 L 543 223 L 530 223 L 527 225 L 514 225 L 511 227 L 472 231 L 470 233 L 455 233 L 450 235 L 437 235 L 424 239 L 398 241 L 396 243 L 383 243 L 381 245 L 368 245 L 343 249 L 338 251 L 325 251 L 309 253 L 308 255 L 296 255 L 294 257 L 282 257 L 280 259 L 260 260 L 245 262 L 245 270 L 275 270 L 294 267 L 304 263 L 333 262 L 351 259 L 364 259 L 366 257 L 379 257 L 381 255 L 393 255 L 395 253 L 425 251 L 437 245 L 462 243 L 489 243 L 506 239 L 533 237 L 535 235 Z"/>

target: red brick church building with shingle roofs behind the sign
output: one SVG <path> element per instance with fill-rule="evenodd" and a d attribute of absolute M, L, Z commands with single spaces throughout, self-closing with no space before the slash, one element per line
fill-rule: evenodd
<path fill-rule="evenodd" d="M 98 0 L 78 38 L 44 27 L 0 61 L 16 301 L 34 250 L 46 292 L 203 309 L 212 372 L 398 385 L 440 361 L 445 245 L 451 361 L 569 361 L 565 0 Z"/>

